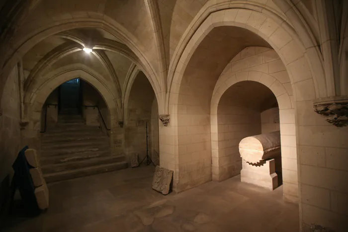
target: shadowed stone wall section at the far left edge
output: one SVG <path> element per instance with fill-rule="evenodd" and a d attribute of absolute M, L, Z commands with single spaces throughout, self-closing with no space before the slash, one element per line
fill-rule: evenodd
<path fill-rule="evenodd" d="M 0 109 L 0 192 L 3 198 L 6 197 L 12 175 L 12 163 L 21 149 L 20 136 L 20 99 L 18 71 L 15 67 L 10 73 L 1 98 Z M 7 176 L 7 177 L 6 177 Z M 0 207 L 5 199 L 0 199 Z M 1 211 L 1 209 L 0 209 Z"/>

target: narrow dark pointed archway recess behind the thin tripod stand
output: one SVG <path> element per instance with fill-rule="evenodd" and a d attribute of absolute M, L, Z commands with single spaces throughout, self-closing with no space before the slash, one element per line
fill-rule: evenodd
<path fill-rule="evenodd" d="M 139 162 L 149 155 L 155 165 L 160 164 L 158 102 L 155 92 L 143 72 L 139 72 L 131 86 L 125 108 L 126 154 L 138 156 Z M 149 162 L 148 162 L 149 163 Z"/>

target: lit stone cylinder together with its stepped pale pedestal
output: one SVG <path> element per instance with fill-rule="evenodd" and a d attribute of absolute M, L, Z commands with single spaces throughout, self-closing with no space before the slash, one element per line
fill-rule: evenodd
<path fill-rule="evenodd" d="M 268 189 L 278 187 L 281 173 L 280 131 L 244 138 L 239 143 L 242 157 L 241 181 Z"/>

